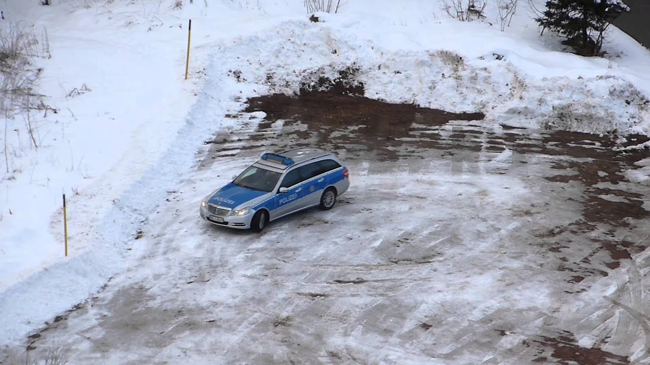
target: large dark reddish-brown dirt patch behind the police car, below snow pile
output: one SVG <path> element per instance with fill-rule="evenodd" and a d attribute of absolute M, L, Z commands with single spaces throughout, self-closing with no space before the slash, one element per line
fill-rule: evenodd
<path fill-rule="evenodd" d="M 307 91 L 299 97 L 273 94 L 253 97 L 244 112 L 263 111 L 266 121 L 285 120 L 296 127 L 297 140 L 315 136 L 317 145 L 363 145 L 379 160 L 397 160 L 396 147 L 413 129 L 413 123 L 425 127 L 443 125 L 451 120 L 482 120 L 482 113 L 449 113 L 411 104 L 389 104 L 353 96 L 357 91 L 334 89 Z M 300 125 L 300 127 L 298 127 Z M 260 125 L 263 129 L 269 125 Z"/>

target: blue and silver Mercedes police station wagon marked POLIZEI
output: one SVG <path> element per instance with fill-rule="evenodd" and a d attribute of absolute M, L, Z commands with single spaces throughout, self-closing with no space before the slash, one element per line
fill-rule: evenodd
<path fill-rule="evenodd" d="M 207 195 L 200 215 L 214 225 L 259 232 L 266 223 L 298 210 L 331 209 L 348 186 L 348 169 L 328 151 L 264 153 L 231 183 Z"/>

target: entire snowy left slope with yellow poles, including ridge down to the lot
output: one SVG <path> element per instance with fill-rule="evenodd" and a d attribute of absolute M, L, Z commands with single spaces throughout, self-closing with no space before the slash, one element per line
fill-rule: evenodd
<path fill-rule="evenodd" d="M 229 14 L 219 18 L 220 28 L 209 18 L 195 20 L 199 36 L 192 42 L 192 75 L 184 81 L 187 26 L 176 10 L 151 15 L 155 21 L 164 19 L 154 27 L 151 19 L 130 24 L 142 9 L 127 1 L 97 8 L 70 6 L 53 7 L 57 13 L 47 16 L 32 13 L 32 8 L 42 7 L 23 9 L 24 16 L 49 19 L 41 21 L 48 24 L 53 57 L 36 62 L 49 70 L 44 71 L 43 94 L 60 112 L 41 121 L 47 130 L 41 127 L 40 133 L 49 137 L 43 146 L 27 156 L 12 156 L 16 171 L 3 179 L 0 308 L 7 315 L 0 322 L 2 342 L 83 301 L 125 268 L 125 254 L 132 249 L 125 244 L 190 168 L 203 140 L 223 125 L 220 116 L 225 112 L 194 104 L 199 95 L 206 97 L 201 78 L 209 45 L 218 41 L 205 29 L 227 37 L 242 34 L 233 24 L 257 21 L 263 28 L 281 21 L 252 18 L 250 14 L 261 11 L 229 4 L 213 10 Z M 200 16 L 198 8 L 190 10 L 184 18 Z M 133 37 L 134 32 L 142 35 Z M 133 70 L 125 72 L 129 67 Z M 64 95 L 82 82 L 92 91 Z M 190 116 L 196 109 L 201 114 Z M 9 129 L 19 128 L 16 122 Z M 68 258 L 62 193 L 68 197 Z M 12 213 L 6 214 L 9 209 Z"/>

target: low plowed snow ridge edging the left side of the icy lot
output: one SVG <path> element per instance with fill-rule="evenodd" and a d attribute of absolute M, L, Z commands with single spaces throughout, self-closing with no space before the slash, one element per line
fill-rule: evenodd
<path fill-rule="evenodd" d="M 216 57 L 211 57 L 214 59 Z M 214 68 L 213 62 L 207 66 Z M 236 112 L 239 103 L 227 97 L 214 99 L 218 90 L 229 81 L 219 77 L 207 80 L 198 101 L 192 106 L 184 126 L 177 132 L 162 157 L 117 199 L 97 227 L 97 236 L 90 249 L 55 262 L 35 275 L 10 286 L 0 296 L 0 344 L 17 340 L 32 328 L 81 303 L 89 293 L 98 290 L 110 277 L 127 267 L 126 245 L 146 217 L 164 201 L 196 163 L 196 150 L 215 129 L 233 123 L 217 119 L 227 112 Z M 215 108 L 217 110 L 215 110 Z M 215 113 L 216 112 L 216 113 Z"/>

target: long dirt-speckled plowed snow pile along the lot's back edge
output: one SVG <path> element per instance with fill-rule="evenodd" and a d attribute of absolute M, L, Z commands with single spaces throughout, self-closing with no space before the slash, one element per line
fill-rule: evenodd
<path fill-rule="evenodd" d="M 343 79 L 363 84 L 365 96 L 373 99 L 480 111 L 487 123 L 518 127 L 627 134 L 643 132 L 640 124 L 650 118 L 650 102 L 632 82 L 608 68 L 593 68 L 603 60 L 558 52 L 556 57 L 575 65 L 557 62 L 554 68 L 491 49 L 489 42 L 469 55 L 436 49 L 434 41 L 426 51 L 391 49 L 355 36 L 356 27 L 339 18 L 319 16 L 318 22 L 305 17 L 241 38 L 219 52 L 222 64 L 237 81 L 266 86 L 267 92 L 294 94 L 320 85 L 321 78 Z M 539 62 L 545 53 L 537 53 Z"/>

